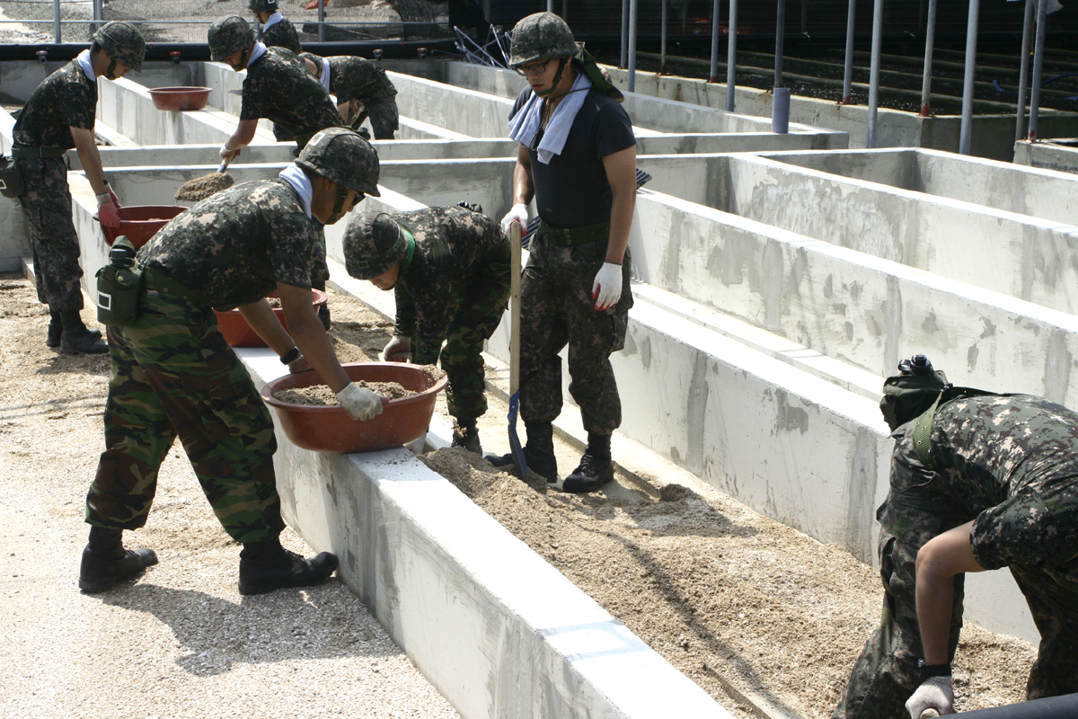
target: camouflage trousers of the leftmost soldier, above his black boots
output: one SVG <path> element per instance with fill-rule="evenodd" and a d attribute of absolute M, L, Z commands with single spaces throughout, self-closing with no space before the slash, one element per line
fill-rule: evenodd
<path fill-rule="evenodd" d="M 17 162 L 26 185 L 18 202 L 30 230 L 38 301 L 54 312 L 82 309 L 82 266 L 71 219 L 67 160 L 61 155 Z"/>

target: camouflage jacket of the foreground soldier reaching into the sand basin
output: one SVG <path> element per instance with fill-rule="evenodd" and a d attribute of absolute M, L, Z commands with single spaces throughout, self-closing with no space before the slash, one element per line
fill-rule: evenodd
<path fill-rule="evenodd" d="M 215 309 L 310 288 L 319 230 L 279 179 L 245 182 L 179 215 L 139 250 L 141 264 L 201 292 Z"/>

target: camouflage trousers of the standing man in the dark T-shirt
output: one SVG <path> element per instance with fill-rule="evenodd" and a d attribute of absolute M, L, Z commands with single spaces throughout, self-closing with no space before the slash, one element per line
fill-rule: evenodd
<path fill-rule="evenodd" d="M 537 235 L 521 287 L 521 417 L 553 421 L 562 413 L 562 358 L 568 346 L 569 393 L 584 429 L 609 434 L 621 425 L 621 398 L 610 355 L 625 343 L 633 293 L 630 255 L 622 263 L 621 299 L 595 310 L 592 286 L 606 241 L 561 247 Z"/>

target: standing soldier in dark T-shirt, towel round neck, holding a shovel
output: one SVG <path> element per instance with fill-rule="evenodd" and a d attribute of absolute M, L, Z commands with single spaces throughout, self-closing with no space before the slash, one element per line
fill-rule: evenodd
<path fill-rule="evenodd" d="M 510 65 L 527 78 L 510 113 L 520 144 L 513 207 L 502 219 L 526 225 L 533 197 L 541 220 L 522 287 L 521 416 L 529 469 L 557 483 L 553 420 L 562 411 L 562 360 L 588 447 L 561 488 L 594 492 L 613 479 L 610 435 L 621 400 L 609 357 L 622 348 L 633 295 L 628 231 L 636 202 L 636 138 L 621 94 L 553 13 L 513 28 Z M 509 465 L 512 455 L 495 457 Z"/>

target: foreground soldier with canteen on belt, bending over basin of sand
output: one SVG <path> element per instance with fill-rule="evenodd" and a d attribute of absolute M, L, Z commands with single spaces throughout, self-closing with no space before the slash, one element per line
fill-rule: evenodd
<path fill-rule="evenodd" d="M 377 177 L 371 146 L 331 128 L 279 178 L 217 193 L 139 250 L 139 317 L 108 328 L 106 450 L 86 498 L 92 528 L 80 587 L 103 591 L 156 564 L 152 550 L 125 550 L 122 531 L 146 524 L 157 470 L 177 437 L 218 520 L 244 544 L 241 594 L 306 586 L 333 572 L 332 554 L 304 559 L 280 545 L 273 421 L 213 309 L 238 306 L 282 363 L 316 370 L 354 419 L 379 414 L 382 398 L 349 381 L 310 302 L 319 225 L 336 222 L 364 193 L 377 195 Z M 263 299 L 273 290 L 287 332 Z"/>

